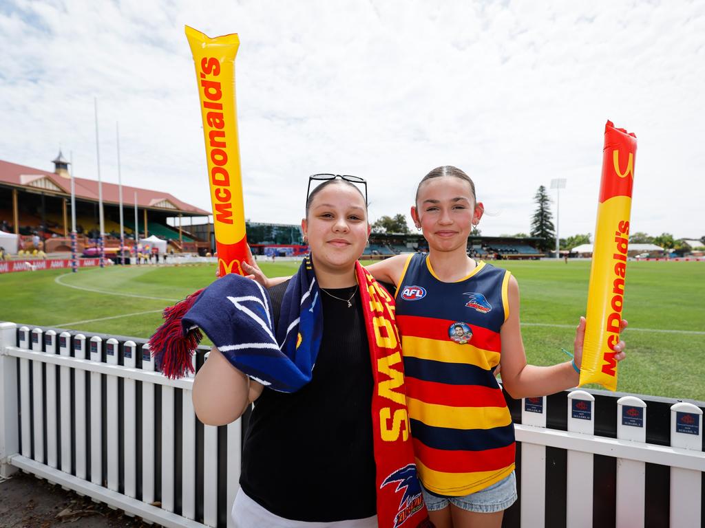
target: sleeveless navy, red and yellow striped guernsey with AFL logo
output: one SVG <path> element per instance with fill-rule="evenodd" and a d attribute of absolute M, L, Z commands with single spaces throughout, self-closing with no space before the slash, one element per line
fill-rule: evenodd
<path fill-rule="evenodd" d="M 480 262 L 467 277 L 442 282 L 416 253 L 400 278 L 410 428 L 419 478 L 433 493 L 464 496 L 514 470 L 514 426 L 494 376 L 509 277 Z"/>

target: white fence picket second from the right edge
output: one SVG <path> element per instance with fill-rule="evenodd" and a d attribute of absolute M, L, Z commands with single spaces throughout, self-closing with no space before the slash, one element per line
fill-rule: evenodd
<path fill-rule="evenodd" d="M 646 403 L 635 396 L 617 401 L 617 438 L 646 442 Z M 617 459 L 617 527 L 644 526 L 646 465 L 638 460 Z"/>

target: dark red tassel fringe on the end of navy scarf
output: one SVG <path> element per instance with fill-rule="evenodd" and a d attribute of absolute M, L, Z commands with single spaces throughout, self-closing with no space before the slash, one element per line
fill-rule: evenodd
<path fill-rule="evenodd" d="M 149 338 L 149 350 L 152 351 L 154 364 L 168 378 L 176 379 L 194 372 L 191 358 L 203 334 L 198 327 L 185 330 L 181 320 L 202 291 L 195 291 L 174 306 L 164 308 L 164 323 Z"/>

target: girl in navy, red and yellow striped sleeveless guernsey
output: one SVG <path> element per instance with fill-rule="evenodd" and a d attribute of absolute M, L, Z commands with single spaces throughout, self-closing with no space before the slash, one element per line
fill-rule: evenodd
<path fill-rule="evenodd" d="M 483 211 L 465 172 L 431 170 L 411 208 L 429 253 L 368 268 L 397 286 L 410 428 L 424 500 L 438 528 L 500 527 L 503 510 L 517 498 L 514 428 L 495 377 L 500 368 L 513 398 L 553 394 L 580 377 L 584 318 L 574 362 L 527 364 L 516 279 L 467 256 L 467 238 Z M 624 358 L 624 347 L 615 345 L 615 359 Z"/>

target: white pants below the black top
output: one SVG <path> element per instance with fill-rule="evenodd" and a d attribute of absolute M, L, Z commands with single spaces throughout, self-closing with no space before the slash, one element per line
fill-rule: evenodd
<path fill-rule="evenodd" d="M 231 511 L 235 528 L 377 528 L 377 516 L 336 522 L 293 521 L 274 515 L 240 489 Z"/>

